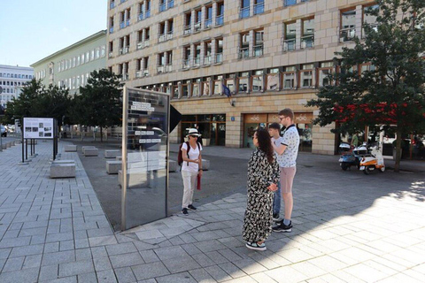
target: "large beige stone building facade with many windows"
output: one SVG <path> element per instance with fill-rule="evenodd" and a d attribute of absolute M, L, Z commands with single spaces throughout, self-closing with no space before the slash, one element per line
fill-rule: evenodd
<path fill-rule="evenodd" d="M 313 126 L 319 112 L 305 103 L 333 83 L 335 52 L 375 21 L 365 14 L 373 3 L 110 0 L 107 65 L 129 87 L 170 94 L 183 115 L 173 142 L 199 126 L 206 143 L 252 147 L 254 130 L 290 107 L 300 149 L 334 154 L 336 125 Z"/>

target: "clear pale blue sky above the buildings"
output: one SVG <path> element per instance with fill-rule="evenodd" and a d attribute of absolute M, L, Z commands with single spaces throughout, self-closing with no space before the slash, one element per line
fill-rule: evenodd
<path fill-rule="evenodd" d="M 0 1 L 0 64 L 29 66 L 106 29 L 107 0 Z"/>

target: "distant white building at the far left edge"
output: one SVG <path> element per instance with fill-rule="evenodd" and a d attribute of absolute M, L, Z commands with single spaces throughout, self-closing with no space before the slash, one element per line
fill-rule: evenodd
<path fill-rule="evenodd" d="M 33 68 L 0 65 L 0 104 L 6 107 L 6 103 L 12 98 L 18 98 L 21 88 L 28 80 L 32 80 L 33 76 Z"/>

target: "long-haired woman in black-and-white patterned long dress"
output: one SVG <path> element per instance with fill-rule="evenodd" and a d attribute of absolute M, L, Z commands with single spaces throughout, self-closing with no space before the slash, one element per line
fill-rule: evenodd
<path fill-rule="evenodd" d="M 264 241 L 272 233 L 273 192 L 279 181 L 279 164 L 267 130 L 257 130 L 252 142 L 256 149 L 248 163 L 248 200 L 243 219 L 243 240 L 248 249 L 266 250 Z"/>

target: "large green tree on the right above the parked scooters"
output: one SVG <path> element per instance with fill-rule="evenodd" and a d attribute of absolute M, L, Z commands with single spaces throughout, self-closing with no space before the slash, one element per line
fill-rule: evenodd
<path fill-rule="evenodd" d="M 354 48 L 336 52 L 342 66 L 332 77 L 336 83 L 321 88 L 306 106 L 320 109 L 314 124 L 338 121 L 334 133 L 395 126 L 398 172 L 402 135 L 425 128 L 425 1 L 375 2 L 379 9 L 367 12 L 376 16 L 376 26 L 366 23 Z M 359 65 L 367 63 L 371 67 L 359 73 Z"/>

